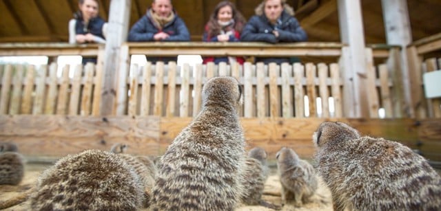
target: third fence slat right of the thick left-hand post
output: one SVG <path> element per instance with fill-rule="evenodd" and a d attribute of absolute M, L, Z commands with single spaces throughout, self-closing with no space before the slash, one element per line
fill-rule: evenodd
<path fill-rule="evenodd" d="M 164 92 L 164 63 L 156 63 L 156 82 L 154 86 L 154 109 L 153 114 L 157 116 L 163 115 L 163 92 Z"/>

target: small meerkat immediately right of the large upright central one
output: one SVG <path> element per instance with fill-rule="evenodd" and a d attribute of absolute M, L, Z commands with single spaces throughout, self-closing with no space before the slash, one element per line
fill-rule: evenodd
<path fill-rule="evenodd" d="M 267 153 L 263 148 L 255 147 L 248 152 L 243 171 L 242 202 L 247 205 L 262 204 L 262 193 L 267 181 L 269 168 Z"/>

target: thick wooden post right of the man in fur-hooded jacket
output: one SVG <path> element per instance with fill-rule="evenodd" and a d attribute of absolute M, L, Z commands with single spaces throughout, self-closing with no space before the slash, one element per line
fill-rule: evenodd
<path fill-rule="evenodd" d="M 342 48 L 343 111 L 347 118 L 368 118 L 365 36 L 360 0 L 338 0 Z"/>

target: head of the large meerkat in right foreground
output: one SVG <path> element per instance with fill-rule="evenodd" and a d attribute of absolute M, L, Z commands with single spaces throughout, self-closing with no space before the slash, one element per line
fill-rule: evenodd
<path fill-rule="evenodd" d="M 331 141 L 346 141 L 353 140 L 360 137 L 360 133 L 356 129 L 353 129 L 351 126 L 343 123 L 343 122 L 322 122 L 314 135 L 312 135 L 312 139 L 314 145 L 317 147 L 323 146 L 327 144 L 327 142 Z"/>

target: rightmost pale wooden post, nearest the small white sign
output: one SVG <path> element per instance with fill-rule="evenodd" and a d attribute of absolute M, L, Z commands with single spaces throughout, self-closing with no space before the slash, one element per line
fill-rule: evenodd
<path fill-rule="evenodd" d="M 384 16 L 384 28 L 387 37 L 387 44 L 400 45 L 400 66 L 402 83 L 401 109 L 405 116 L 415 117 L 415 105 L 412 103 L 411 85 L 416 85 L 412 81 L 410 69 L 407 60 L 407 45 L 412 42 L 411 26 L 409 21 L 409 12 L 407 10 L 406 0 L 382 0 L 382 9 Z M 419 76 L 421 77 L 421 76 Z M 413 77 L 412 77 L 413 78 Z"/>

